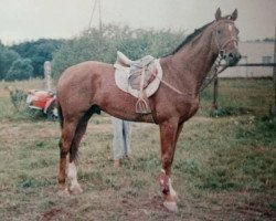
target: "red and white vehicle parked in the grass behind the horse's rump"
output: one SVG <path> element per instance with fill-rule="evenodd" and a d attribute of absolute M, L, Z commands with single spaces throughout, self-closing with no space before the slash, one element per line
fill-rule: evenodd
<path fill-rule="evenodd" d="M 47 119 L 57 120 L 57 108 L 56 108 L 56 96 L 55 93 L 49 91 L 31 90 L 28 92 L 26 104 L 30 108 L 41 109 L 46 114 Z"/>

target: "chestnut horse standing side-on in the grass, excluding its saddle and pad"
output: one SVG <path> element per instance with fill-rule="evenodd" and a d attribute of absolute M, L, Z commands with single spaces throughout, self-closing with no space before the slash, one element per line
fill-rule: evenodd
<path fill-rule="evenodd" d="M 162 164 L 159 182 L 163 204 L 170 211 L 177 211 L 177 194 L 170 179 L 177 140 L 184 122 L 199 108 L 201 85 L 216 57 L 223 57 L 227 65 L 235 65 L 241 59 L 238 30 L 234 24 L 236 18 L 237 10 L 222 17 L 217 9 L 213 22 L 195 30 L 171 54 L 160 59 L 163 82 L 148 99 L 151 114 L 136 113 L 137 98 L 116 86 L 113 64 L 88 61 L 68 67 L 57 84 L 62 126 L 59 193 L 83 191 L 77 182 L 77 149 L 91 116 L 104 110 L 121 119 L 159 125 Z M 65 185 L 68 152 L 70 189 Z"/>

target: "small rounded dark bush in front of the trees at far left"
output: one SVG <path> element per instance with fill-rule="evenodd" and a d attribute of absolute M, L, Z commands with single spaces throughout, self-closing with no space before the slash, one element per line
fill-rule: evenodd
<path fill-rule="evenodd" d="M 32 62 L 29 59 L 18 59 L 7 73 L 6 81 L 29 80 L 33 75 Z"/>

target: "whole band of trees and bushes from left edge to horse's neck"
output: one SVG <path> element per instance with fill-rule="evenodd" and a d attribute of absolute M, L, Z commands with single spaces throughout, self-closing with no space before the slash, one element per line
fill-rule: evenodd
<path fill-rule="evenodd" d="M 11 46 L 0 44 L 0 81 L 43 77 L 45 61 L 51 61 L 57 78 L 66 67 L 84 61 L 114 63 L 117 51 L 132 60 L 147 54 L 160 57 L 172 52 L 183 39 L 183 31 L 105 25 L 102 30 L 85 30 L 70 40 L 40 39 Z"/>

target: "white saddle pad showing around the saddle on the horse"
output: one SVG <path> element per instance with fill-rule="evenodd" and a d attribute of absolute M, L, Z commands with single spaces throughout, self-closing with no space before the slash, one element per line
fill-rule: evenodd
<path fill-rule="evenodd" d="M 157 92 L 157 90 L 160 85 L 160 81 L 162 80 L 162 75 L 163 75 L 159 60 L 155 60 L 155 63 L 156 63 L 156 67 L 157 67 L 157 77 L 152 82 L 150 82 L 150 84 L 145 88 L 147 97 L 150 97 L 151 95 L 153 95 Z M 128 84 L 130 67 L 125 67 L 125 66 L 121 66 L 119 64 L 114 64 L 114 66 L 116 69 L 115 82 L 116 82 L 117 86 L 121 91 L 127 92 L 135 97 L 138 97 L 140 91 L 131 88 L 131 86 Z"/>

